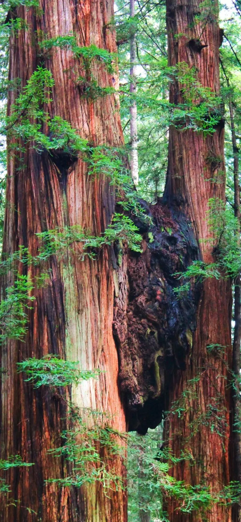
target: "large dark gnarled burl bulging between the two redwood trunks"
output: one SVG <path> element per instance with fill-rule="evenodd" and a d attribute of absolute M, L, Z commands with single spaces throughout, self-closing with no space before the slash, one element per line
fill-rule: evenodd
<path fill-rule="evenodd" d="M 176 272 L 198 258 L 190 222 L 177 207 L 161 200 L 148 207 L 153 224 L 136 224 L 143 252 L 118 256 L 119 292 L 114 305 L 114 336 L 119 380 L 128 429 L 144 434 L 155 428 L 164 411 L 165 382 L 174 368 L 185 369 L 196 328 L 199 289 L 192 281 L 179 298 Z"/>

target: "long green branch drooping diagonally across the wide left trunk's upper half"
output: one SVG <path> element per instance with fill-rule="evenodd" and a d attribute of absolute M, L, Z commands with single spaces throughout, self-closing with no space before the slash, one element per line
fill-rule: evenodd
<path fill-rule="evenodd" d="M 65 39 L 63 45 L 66 45 Z M 94 50 L 92 49 L 93 53 Z M 62 117 L 54 116 L 50 120 L 43 107 L 44 104 L 51 101 L 53 85 L 51 73 L 39 66 L 17 97 L 12 106 L 11 115 L 6 118 L 5 126 L 2 128 L 2 133 L 7 132 L 8 138 L 12 138 L 9 151 L 11 149 L 12 153 L 18 155 L 20 150 L 25 151 L 27 143 L 31 143 L 31 147 L 34 147 L 40 153 L 45 149 L 50 153 L 62 151 L 73 156 L 81 155 L 82 159 L 88 163 L 90 174 L 93 176 L 102 174 L 110 177 L 111 184 L 115 185 L 117 189 L 119 204 L 122 204 L 124 210 L 131 209 L 135 213 L 141 213 L 129 171 L 124 168 L 124 151 L 106 146 L 93 147 L 88 144 L 87 140 L 81 138 L 78 132 Z M 99 87 L 96 84 L 92 84 L 92 86 L 94 86 L 95 94 L 97 94 Z M 103 89 L 102 94 L 112 92 L 112 88 Z M 95 96 L 94 93 L 92 94 Z M 42 133 L 43 124 L 47 124 L 48 135 Z M 17 138 L 18 141 L 16 142 Z M 23 142 L 22 146 L 19 143 L 19 138 Z M 122 197 L 120 197 L 120 194 Z M 123 222 L 124 220 L 125 217 L 123 217 Z M 116 218 L 114 218 L 114 221 L 116 222 Z M 127 236 L 129 232 L 130 227 L 128 226 Z M 132 242 L 130 241 L 130 243 Z"/>

